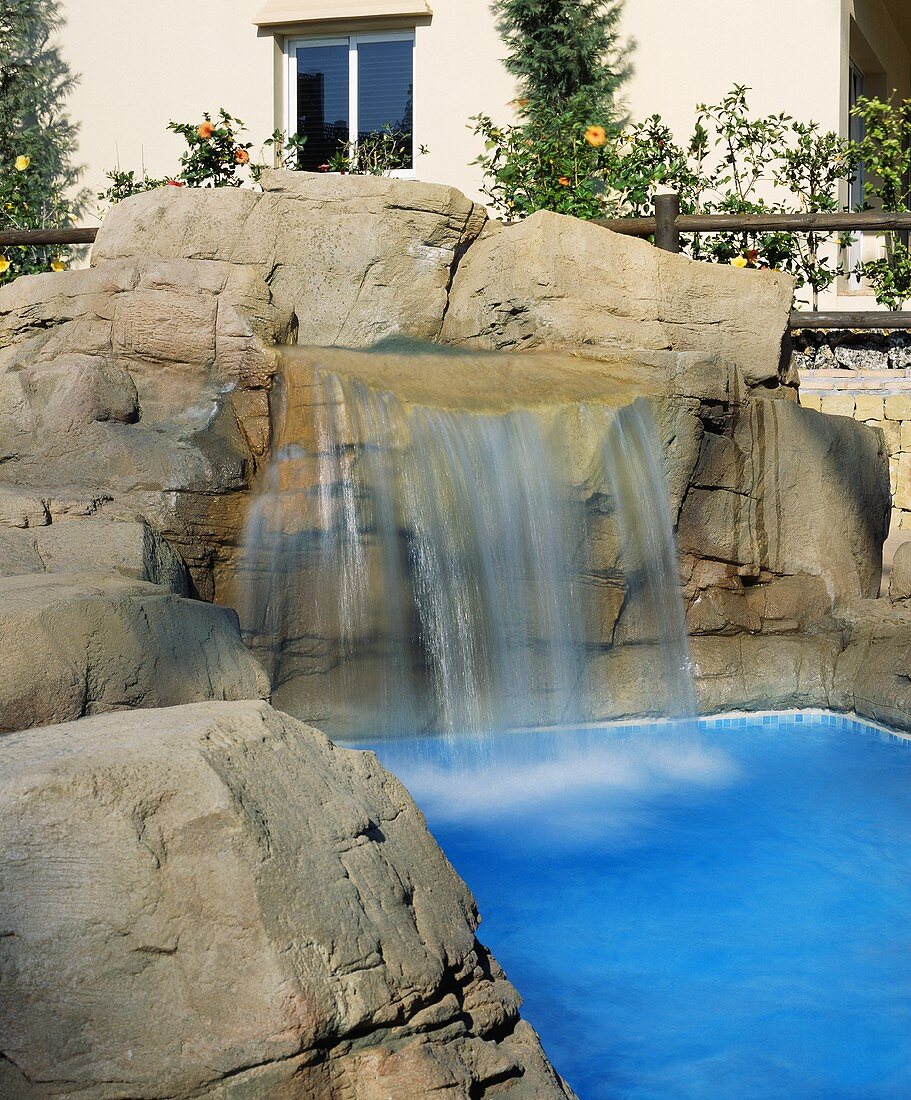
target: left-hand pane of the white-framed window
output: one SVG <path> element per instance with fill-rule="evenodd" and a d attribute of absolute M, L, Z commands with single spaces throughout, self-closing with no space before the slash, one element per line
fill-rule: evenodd
<path fill-rule="evenodd" d="M 300 167 L 314 172 L 348 144 L 348 46 L 297 51 L 297 132 L 307 138 Z"/>

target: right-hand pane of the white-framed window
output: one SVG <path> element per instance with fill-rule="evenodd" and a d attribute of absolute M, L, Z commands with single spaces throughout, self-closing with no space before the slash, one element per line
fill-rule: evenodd
<path fill-rule="evenodd" d="M 414 74 L 408 42 L 362 42 L 358 46 L 358 139 L 391 130 L 400 136 L 402 164 L 413 167 Z"/>

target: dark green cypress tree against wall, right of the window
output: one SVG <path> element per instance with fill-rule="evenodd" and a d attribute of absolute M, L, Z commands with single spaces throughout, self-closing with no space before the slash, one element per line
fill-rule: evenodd
<path fill-rule="evenodd" d="M 518 80 L 526 118 L 617 118 L 616 92 L 630 73 L 622 8 L 622 0 L 496 0 L 506 68 Z"/>

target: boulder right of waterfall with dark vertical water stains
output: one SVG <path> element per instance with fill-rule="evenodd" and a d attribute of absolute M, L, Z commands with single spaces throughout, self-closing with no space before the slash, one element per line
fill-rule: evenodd
<path fill-rule="evenodd" d="M 703 436 L 679 543 L 748 581 L 819 578 L 831 607 L 879 592 L 888 528 L 881 432 L 790 402 L 750 399 L 732 428 Z"/>

